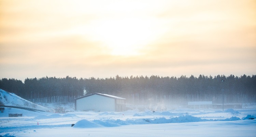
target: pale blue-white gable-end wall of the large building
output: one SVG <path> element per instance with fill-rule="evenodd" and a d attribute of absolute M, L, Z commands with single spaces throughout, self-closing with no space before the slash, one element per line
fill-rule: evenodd
<path fill-rule="evenodd" d="M 114 112 L 115 99 L 100 95 L 92 95 L 76 100 L 77 111 Z"/>

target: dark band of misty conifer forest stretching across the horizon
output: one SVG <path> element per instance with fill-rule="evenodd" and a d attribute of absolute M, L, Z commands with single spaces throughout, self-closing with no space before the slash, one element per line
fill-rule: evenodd
<path fill-rule="evenodd" d="M 0 80 L 0 89 L 15 93 L 27 100 L 44 100 L 51 102 L 47 98 L 57 98 L 63 96 L 69 98 L 66 101 L 73 101 L 72 98 L 85 94 L 103 93 L 120 96 L 128 99 L 149 100 L 152 97 L 172 98 L 174 95 L 195 96 L 200 98 L 205 95 L 210 97 L 225 95 L 248 96 L 255 101 L 256 95 L 256 75 L 234 76 L 217 75 L 195 77 L 160 77 L 152 75 L 120 77 L 116 75 L 110 78 L 27 78 L 24 83 L 17 79 Z M 71 99 L 70 99 L 71 98 Z M 193 99 L 191 99 L 193 100 Z M 194 98 L 194 100 L 196 100 Z M 197 99 L 198 100 L 198 99 Z M 203 100 L 203 99 L 202 99 Z"/>

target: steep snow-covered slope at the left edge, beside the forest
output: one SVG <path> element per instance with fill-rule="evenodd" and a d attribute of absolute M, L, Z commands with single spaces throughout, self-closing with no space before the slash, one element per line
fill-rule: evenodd
<path fill-rule="evenodd" d="M 24 98 L 17 96 L 14 93 L 9 93 L 2 89 L 0 89 L 0 104 L 6 105 L 6 106 L 28 107 L 31 109 L 37 109 L 37 110 L 43 110 L 43 111 L 49 110 L 47 107 L 35 104 L 33 102 L 30 102 Z"/>

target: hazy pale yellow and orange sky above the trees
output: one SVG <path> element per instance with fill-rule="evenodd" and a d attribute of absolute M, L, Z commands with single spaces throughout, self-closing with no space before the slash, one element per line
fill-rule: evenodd
<path fill-rule="evenodd" d="M 255 0 L 0 0 L 0 78 L 256 74 Z"/>

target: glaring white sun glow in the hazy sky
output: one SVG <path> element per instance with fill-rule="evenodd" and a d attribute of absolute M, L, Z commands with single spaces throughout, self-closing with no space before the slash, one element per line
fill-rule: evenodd
<path fill-rule="evenodd" d="M 154 40 L 152 28 L 150 20 L 128 18 L 98 22 L 93 32 L 111 55 L 137 56 L 143 54 L 143 48 Z"/>

